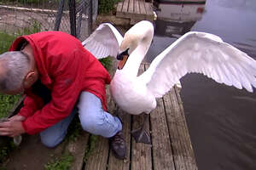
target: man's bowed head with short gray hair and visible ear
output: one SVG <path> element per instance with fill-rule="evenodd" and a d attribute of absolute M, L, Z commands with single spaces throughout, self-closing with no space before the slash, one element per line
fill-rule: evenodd
<path fill-rule="evenodd" d="M 35 63 L 21 51 L 0 55 L 0 93 L 20 94 L 38 80 Z"/>

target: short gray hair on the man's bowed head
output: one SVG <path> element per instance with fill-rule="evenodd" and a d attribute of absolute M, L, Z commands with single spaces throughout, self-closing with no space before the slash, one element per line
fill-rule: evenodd
<path fill-rule="evenodd" d="M 6 52 L 0 55 L 0 92 L 14 91 L 21 87 L 24 77 L 30 70 L 30 59 L 21 51 Z"/>

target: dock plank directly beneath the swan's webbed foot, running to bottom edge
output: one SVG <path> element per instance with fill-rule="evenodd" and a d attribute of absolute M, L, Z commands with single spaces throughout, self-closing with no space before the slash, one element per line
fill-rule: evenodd
<path fill-rule="evenodd" d="M 144 65 L 140 65 L 138 75 L 144 71 Z M 137 129 L 143 123 L 143 116 L 133 116 L 132 130 Z M 149 121 L 145 122 L 145 129 L 149 133 Z M 152 169 L 152 158 L 151 158 L 151 144 L 137 143 L 132 138 L 132 150 L 131 150 L 131 170 L 151 170 Z"/>

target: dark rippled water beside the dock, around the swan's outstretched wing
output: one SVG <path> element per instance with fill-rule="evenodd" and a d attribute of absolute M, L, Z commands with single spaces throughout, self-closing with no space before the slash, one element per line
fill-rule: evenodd
<path fill-rule="evenodd" d="M 255 0 L 207 0 L 206 12 L 191 30 L 216 34 L 256 59 Z M 175 40 L 155 35 L 148 61 Z M 189 74 L 181 82 L 199 169 L 256 170 L 256 92 L 228 87 L 199 74 Z"/>

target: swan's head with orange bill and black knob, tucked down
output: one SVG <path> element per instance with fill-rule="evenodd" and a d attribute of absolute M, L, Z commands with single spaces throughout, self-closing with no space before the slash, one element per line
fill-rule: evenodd
<path fill-rule="evenodd" d="M 130 30 L 126 31 L 117 56 L 117 59 L 120 60 L 118 68 L 122 69 L 124 67 L 129 55 L 139 45 L 142 45 L 145 47 L 145 51 L 148 51 L 153 36 L 154 26 L 148 20 L 140 21 L 136 25 L 132 26 Z"/>

